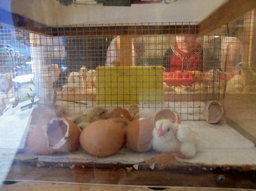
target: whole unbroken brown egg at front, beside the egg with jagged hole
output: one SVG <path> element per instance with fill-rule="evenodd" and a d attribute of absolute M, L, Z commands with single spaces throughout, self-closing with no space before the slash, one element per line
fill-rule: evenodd
<path fill-rule="evenodd" d="M 98 120 L 83 129 L 80 144 L 86 152 L 96 157 L 116 153 L 123 145 L 124 132 L 113 121 Z"/>

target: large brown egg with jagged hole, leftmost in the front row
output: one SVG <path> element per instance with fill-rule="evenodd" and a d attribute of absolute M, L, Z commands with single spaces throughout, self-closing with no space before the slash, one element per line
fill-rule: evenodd
<path fill-rule="evenodd" d="M 79 147 L 81 129 L 72 121 L 56 118 L 38 125 L 28 135 L 28 148 L 37 154 L 68 152 Z"/>

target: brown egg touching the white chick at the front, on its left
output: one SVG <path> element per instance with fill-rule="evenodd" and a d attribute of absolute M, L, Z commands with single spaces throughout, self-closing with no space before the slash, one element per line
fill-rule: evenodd
<path fill-rule="evenodd" d="M 152 148 L 153 130 L 156 123 L 147 118 L 132 121 L 125 129 L 126 147 L 136 152 L 146 152 Z"/>

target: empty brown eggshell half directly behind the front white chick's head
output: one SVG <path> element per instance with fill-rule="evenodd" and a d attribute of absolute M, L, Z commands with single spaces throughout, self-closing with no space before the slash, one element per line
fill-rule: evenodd
<path fill-rule="evenodd" d="M 160 111 L 157 112 L 154 118 L 154 121 L 157 122 L 158 120 L 161 120 L 161 119 L 169 119 L 173 123 L 181 124 L 179 114 L 175 110 L 161 109 Z"/>

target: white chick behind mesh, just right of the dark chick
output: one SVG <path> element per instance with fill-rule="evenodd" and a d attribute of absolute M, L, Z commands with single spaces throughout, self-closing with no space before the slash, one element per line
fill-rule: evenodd
<path fill-rule="evenodd" d="M 68 83 L 63 86 L 63 90 L 68 91 L 83 90 L 85 84 L 83 82 L 83 77 L 78 72 L 71 72 L 68 77 Z"/>

